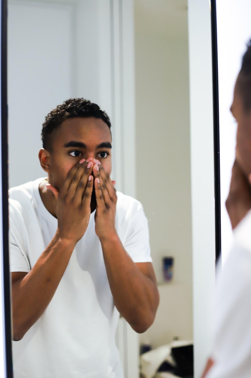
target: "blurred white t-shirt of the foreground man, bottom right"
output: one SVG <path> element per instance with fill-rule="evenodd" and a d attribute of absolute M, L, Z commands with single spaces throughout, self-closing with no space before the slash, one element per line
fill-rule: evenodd
<path fill-rule="evenodd" d="M 207 378 L 251 377 L 251 211 L 234 229 L 234 245 L 216 285 L 214 365 Z"/>

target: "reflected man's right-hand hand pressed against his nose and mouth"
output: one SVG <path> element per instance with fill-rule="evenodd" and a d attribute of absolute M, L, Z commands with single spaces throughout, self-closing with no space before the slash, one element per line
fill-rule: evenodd
<path fill-rule="evenodd" d="M 117 195 L 113 186 L 115 181 L 110 179 L 109 174 L 101 164 L 93 166 L 95 178 L 94 187 L 96 194 L 95 232 L 99 240 L 109 239 L 116 235 L 115 215 Z"/>

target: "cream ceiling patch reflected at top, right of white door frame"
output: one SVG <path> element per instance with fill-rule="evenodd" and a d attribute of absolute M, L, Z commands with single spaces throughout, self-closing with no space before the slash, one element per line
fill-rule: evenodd
<path fill-rule="evenodd" d="M 135 0 L 136 32 L 187 40 L 187 0 Z"/>

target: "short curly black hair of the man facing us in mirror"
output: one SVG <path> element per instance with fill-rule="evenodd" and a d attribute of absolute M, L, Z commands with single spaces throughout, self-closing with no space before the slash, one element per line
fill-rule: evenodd
<path fill-rule="evenodd" d="M 94 117 L 103 119 L 109 129 L 111 129 L 110 118 L 97 104 L 84 98 L 71 98 L 64 101 L 63 104 L 58 105 L 46 116 L 41 133 L 43 148 L 51 151 L 52 132 L 66 119 L 76 117 Z"/>

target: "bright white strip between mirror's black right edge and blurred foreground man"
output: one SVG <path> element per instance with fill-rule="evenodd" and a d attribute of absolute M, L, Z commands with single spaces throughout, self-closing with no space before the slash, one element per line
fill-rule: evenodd
<path fill-rule="evenodd" d="M 234 84 L 240 71 L 246 43 L 251 39 L 251 2 L 249 0 L 220 0 L 217 7 L 217 43 L 219 70 L 220 125 L 220 201 L 221 246 L 224 265 L 233 243 L 233 232 L 225 207 L 231 171 L 235 159 L 236 122 L 231 115 Z M 248 15 L 248 16 L 247 16 Z"/>

